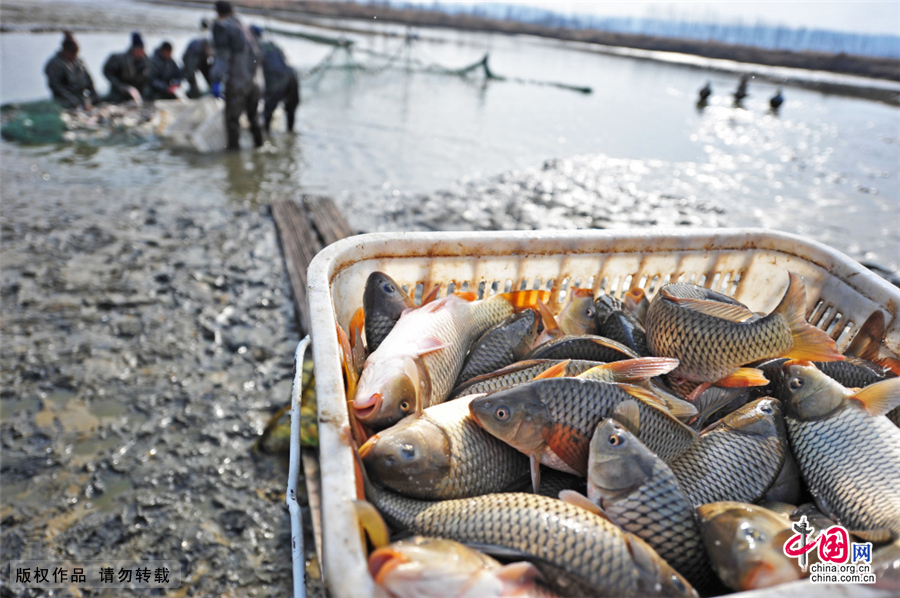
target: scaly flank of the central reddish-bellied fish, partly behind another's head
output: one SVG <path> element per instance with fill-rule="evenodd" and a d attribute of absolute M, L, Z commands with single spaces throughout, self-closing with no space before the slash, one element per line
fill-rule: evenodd
<path fill-rule="evenodd" d="M 590 439 L 597 424 L 610 417 L 617 405 L 632 396 L 615 384 L 578 378 L 531 382 L 554 422 L 571 426 Z M 492 395 L 497 396 L 497 395 Z M 671 461 L 694 442 L 695 436 L 662 410 L 638 402 L 638 439 L 663 461 Z"/>

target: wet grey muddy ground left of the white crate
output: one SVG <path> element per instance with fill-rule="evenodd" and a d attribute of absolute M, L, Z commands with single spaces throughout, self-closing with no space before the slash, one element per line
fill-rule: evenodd
<path fill-rule="evenodd" d="M 286 459 L 254 450 L 299 340 L 268 208 L 2 163 L 0 594 L 11 560 L 133 558 L 180 561 L 171 596 L 288 595 Z"/>

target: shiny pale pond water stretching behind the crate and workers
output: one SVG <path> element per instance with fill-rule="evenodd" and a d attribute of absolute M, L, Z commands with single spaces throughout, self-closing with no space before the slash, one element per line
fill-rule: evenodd
<path fill-rule="evenodd" d="M 172 8 L 151 12 L 156 25 L 144 34 L 148 50 L 168 39 L 176 56 L 197 35 L 192 27 L 206 14 Z M 243 19 L 316 30 L 271 18 Z M 172 25 L 161 26 L 160 20 Z M 77 34 L 101 93 L 106 89 L 103 60 L 124 47 L 127 32 L 123 27 L 120 32 Z M 305 78 L 298 134 L 279 129 L 259 151 L 177 154 L 155 139 L 90 148 L 4 142 L 4 151 L 40 161 L 42 170 L 63 181 L 87 178 L 107 188 L 178 191 L 190 202 L 263 203 L 302 193 L 331 195 L 363 231 L 397 228 L 401 221 L 396 214 L 407 208 L 423 215 L 414 223 L 402 221 L 403 227 L 445 228 L 438 191 L 467 182 L 466 201 L 477 202 L 479 181 L 487 186 L 500 173 L 515 178 L 529 169 L 531 174 L 522 176 L 535 176 L 534 169 L 547 160 L 593 156 L 600 160 L 579 160 L 574 168 L 603 168 L 612 160 L 616 169 L 639 173 L 622 185 L 613 177 L 606 183 L 609 189 L 594 189 L 593 199 L 579 200 L 594 202 L 594 212 L 603 209 L 604 191 L 624 191 L 635 203 L 646 194 L 670 196 L 714 206 L 717 225 L 795 232 L 856 259 L 900 267 L 897 107 L 788 87 L 786 103 L 776 115 L 768 111 L 776 89 L 771 83 L 751 81 L 743 109 L 732 106 L 736 74 L 612 56 L 527 36 L 423 30 L 406 45 L 398 33 L 402 29 L 376 25 L 362 33 L 344 32 L 356 42 L 356 50 L 352 57 L 339 51 L 331 65 L 371 68 L 325 69 Z M 332 51 L 304 39 L 268 35 L 301 71 Z M 3 102 L 46 96 L 42 67 L 59 40 L 57 33 L 0 35 Z M 589 86 L 592 93 L 491 81 L 480 71 L 459 77 L 420 68 L 459 68 L 486 53 L 498 75 Z M 714 95 L 701 110 L 696 93 L 707 80 Z M 571 173 L 572 180 L 580 174 Z M 576 212 L 570 222 L 563 213 L 562 224 L 583 226 Z M 617 218 L 619 224 L 629 224 L 627 213 Z M 517 224 L 535 226 L 511 220 L 504 227 Z"/>

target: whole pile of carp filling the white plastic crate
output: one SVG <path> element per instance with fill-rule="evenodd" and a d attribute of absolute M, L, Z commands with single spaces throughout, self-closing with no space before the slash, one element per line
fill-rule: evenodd
<path fill-rule="evenodd" d="M 878 584 L 898 584 L 900 360 L 884 315 L 842 355 L 807 323 L 802 279 L 784 284 L 769 314 L 683 283 L 652 301 L 569 289 L 555 314 L 547 291 L 435 287 L 417 305 L 372 273 L 337 330 L 364 498 L 405 538 L 372 538 L 376 583 L 719 595 L 803 577 L 783 546 L 806 516 L 873 542 Z"/>

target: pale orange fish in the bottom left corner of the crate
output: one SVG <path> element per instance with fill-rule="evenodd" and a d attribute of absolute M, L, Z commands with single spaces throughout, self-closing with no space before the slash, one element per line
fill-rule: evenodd
<path fill-rule="evenodd" d="M 369 572 L 396 598 L 552 596 L 537 585 L 531 563 L 501 565 L 443 538 L 415 536 L 379 548 L 369 555 Z"/>

